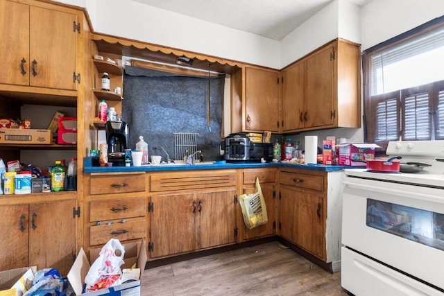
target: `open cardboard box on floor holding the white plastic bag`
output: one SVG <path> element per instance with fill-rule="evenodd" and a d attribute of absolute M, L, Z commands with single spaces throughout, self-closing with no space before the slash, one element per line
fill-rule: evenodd
<path fill-rule="evenodd" d="M 142 240 L 142 243 L 123 243 L 123 247 L 125 247 L 125 256 L 123 260 L 125 263 L 121 265 L 121 269 L 123 268 L 131 268 L 134 263 L 137 263 L 137 268 L 140 268 L 140 278 L 142 279 L 142 275 L 145 270 L 146 260 L 148 259 L 146 255 L 146 245 L 145 241 Z M 138 247 L 140 245 L 140 247 Z M 94 292 L 84 293 L 83 286 L 85 286 L 85 277 L 88 273 L 91 264 L 99 257 L 99 252 L 101 248 L 94 249 L 89 252 L 89 261 L 85 254 L 85 251 L 80 249 L 78 252 L 76 261 L 71 267 L 71 270 L 68 272 L 68 280 L 71 284 L 72 288 L 76 295 L 87 295 L 87 296 L 138 296 L 140 295 L 140 280 L 139 281 L 131 281 L 127 284 L 121 284 L 117 286 L 113 286 L 110 288 L 105 288 L 101 290 L 96 290 Z"/>

